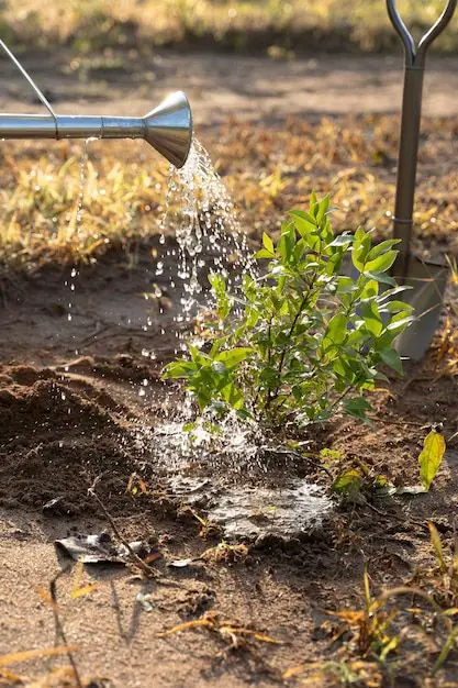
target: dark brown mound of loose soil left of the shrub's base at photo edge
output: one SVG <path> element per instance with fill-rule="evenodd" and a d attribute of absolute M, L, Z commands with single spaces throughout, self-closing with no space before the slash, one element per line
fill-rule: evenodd
<path fill-rule="evenodd" d="M 0 503 L 57 499 L 54 513 L 90 510 L 87 489 L 100 474 L 111 503 L 125 503 L 138 451 L 127 409 L 107 390 L 49 368 L 2 366 L 0 418 Z"/>

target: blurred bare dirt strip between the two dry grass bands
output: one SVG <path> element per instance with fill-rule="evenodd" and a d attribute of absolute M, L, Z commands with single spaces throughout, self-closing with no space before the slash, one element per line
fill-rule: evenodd
<path fill-rule="evenodd" d="M 198 127 L 228 116 L 258 124 L 294 114 L 398 112 L 403 59 L 392 55 L 320 55 L 293 60 L 172 52 L 132 57 L 100 67 L 64 48 L 52 55 L 26 54 L 23 64 L 47 93 L 56 112 L 142 115 L 170 90 L 186 90 Z M 120 67 L 121 64 L 121 67 Z M 456 114 L 456 57 L 433 55 L 425 78 L 424 113 Z M 36 112 L 36 96 L 14 66 L 0 60 L 7 85 L 0 95 L 4 112 Z"/>

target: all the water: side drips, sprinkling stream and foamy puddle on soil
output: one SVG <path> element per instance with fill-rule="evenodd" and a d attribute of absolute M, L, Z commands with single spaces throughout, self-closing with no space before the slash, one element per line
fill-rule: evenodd
<path fill-rule="evenodd" d="M 83 218 L 88 144 L 87 141 L 80 162 L 76 232 L 80 231 Z M 236 289 L 244 274 L 256 275 L 256 265 L 249 256 L 234 203 L 209 153 L 194 140 L 187 164 L 180 170 L 170 167 L 159 249 L 152 265 L 153 289 L 160 293 L 160 285 L 165 284 L 174 303 L 172 329 L 178 355 L 187 349 L 200 310 L 212 308 L 210 270 L 224 274 Z M 72 317 L 77 267 L 70 276 L 68 320 Z M 148 331 L 149 315 L 146 323 L 143 329 Z M 159 310 L 159 332 L 169 336 L 170 324 L 170 315 L 163 318 Z M 153 336 L 157 344 L 157 335 L 152 333 L 152 340 Z M 156 356 L 150 346 L 142 354 L 153 359 Z M 145 403 L 152 403 L 152 395 L 146 397 L 147 387 L 147 379 L 137 385 L 138 396 Z M 154 429 L 138 428 L 135 439 L 145 460 L 168 476 L 170 489 L 180 499 L 194 502 L 200 490 L 190 485 L 190 479 L 191 482 L 194 479 L 190 476 L 200 476 L 204 486 L 201 506 L 223 528 L 226 537 L 257 539 L 273 534 L 288 539 L 320 526 L 332 502 L 320 487 L 295 477 L 297 467 L 288 453 L 272 450 L 256 423 L 228 415 L 219 435 L 208 433 L 204 424 L 190 435 L 182 426 L 193 418 L 191 398 L 187 396 L 177 404 L 176 397 L 171 397 L 164 403 L 164 393 L 165 388 L 157 390 L 157 401 L 167 417 L 164 423 Z M 269 485 L 259 485 L 262 475 L 269 478 Z M 275 485 L 280 487 L 272 487 L 273 475 L 278 478 Z M 249 487 L 254 480 L 258 485 L 256 489 Z"/>

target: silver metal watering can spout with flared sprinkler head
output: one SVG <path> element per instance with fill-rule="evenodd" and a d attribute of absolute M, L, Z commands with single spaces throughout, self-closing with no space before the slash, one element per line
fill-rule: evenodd
<path fill-rule="evenodd" d="M 192 114 L 182 91 L 171 93 L 143 118 L 56 114 L 3 41 L 0 45 L 49 112 L 0 114 L 0 138 L 145 138 L 172 165 L 185 165 L 192 141 Z"/>

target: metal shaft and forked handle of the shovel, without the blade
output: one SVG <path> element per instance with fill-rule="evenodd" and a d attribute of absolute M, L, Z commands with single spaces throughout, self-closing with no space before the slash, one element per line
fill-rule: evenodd
<path fill-rule="evenodd" d="M 418 45 L 402 21 L 395 0 L 387 0 L 388 15 L 404 46 L 404 92 L 402 98 L 401 136 L 399 144 L 396 198 L 393 236 L 402 240 L 394 275 L 403 280 L 409 269 L 415 197 L 416 158 L 418 153 L 420 122 L 422 116 L 423 75 L 429 45 L 444 31 L 454 15 L 458 0 L 448 0 L 446 8 L 422 36 Z"/>

